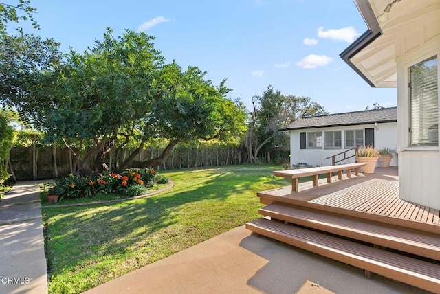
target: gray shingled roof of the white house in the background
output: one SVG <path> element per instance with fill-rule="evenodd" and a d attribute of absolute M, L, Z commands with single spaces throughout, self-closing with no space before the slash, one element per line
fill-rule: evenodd
<path fill-rule="evenodd" d="M 292 124 L 282 128 L 281 131 L 297 130 L 300 128 L 374 124 L 375 122 L 397 122 L 397 107 L 298 118 Z"/>

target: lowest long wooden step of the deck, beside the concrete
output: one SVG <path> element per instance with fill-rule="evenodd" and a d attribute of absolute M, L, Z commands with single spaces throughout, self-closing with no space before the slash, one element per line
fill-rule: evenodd
<path fill-rule="evenodd" d="M 265 218 L 246 223 L 246 228 L 289 245 L 327 258 L 340 260 L 360 269 L 406 282 L 421 289 L 437 292 L 440 286 L 440 266 L 438 264 L 397 255 Z"/>

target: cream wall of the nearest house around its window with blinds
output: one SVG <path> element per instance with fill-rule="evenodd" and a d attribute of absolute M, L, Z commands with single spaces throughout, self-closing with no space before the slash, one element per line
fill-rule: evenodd
<path fill-rule="evenodd" d="M 434 148 L 409 146 L 408 68 L 436 54 L 440 58 L 440 17 L 438 16 L 438 14 L 430 14 L 423 21 L 412 23 L 412 30 L 402 31 L 400 38 L 396 40 L 400 198 L 436 209 L 440 209 L 440 150 L 438 146 Z"/>

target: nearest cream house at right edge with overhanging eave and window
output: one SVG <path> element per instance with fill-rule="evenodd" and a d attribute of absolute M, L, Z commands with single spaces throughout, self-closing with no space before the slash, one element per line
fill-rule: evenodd
<path fill-rule="evenodd" d="M 355 0 L 369 30 L 340 54 L 372 87 L 397 87 L 401 199 L 440 209 L 440 0 Z"/>

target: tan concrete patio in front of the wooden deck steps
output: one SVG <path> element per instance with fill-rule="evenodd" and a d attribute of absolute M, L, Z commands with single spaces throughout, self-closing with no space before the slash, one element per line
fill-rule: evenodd
<path fill-rule="evenodd" d="M 426 293 L 252 234 L 244 226 L 86 291 L 122 293 Z"/>

